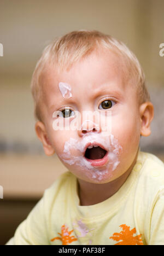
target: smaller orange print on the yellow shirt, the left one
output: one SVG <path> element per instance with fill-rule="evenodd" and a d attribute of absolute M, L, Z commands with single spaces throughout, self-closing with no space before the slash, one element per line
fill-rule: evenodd
<path fill-rule="evenodd" d="M 61 240 L 62 245 L 69 245 L 69 243 L 72 243 L 73 241 L 77 241 L 77 238 L 74 236 L 70 236 L 73 230 L 68 231 L 68 228 L 66 228 L 66 225 L 62 225 L 61 227 L 61 234 L 57 233 L 61 237 L 55 237 L 51 239 L 51 242 L 54 242 L 55 240 Z"/>

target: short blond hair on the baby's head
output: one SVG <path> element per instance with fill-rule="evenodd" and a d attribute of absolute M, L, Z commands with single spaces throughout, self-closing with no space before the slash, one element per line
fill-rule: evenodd
<path fill-rule="evenodd" d="M 106 48 L 124 60 L 128 77 L 134 78 L 138 89 L 139 103 L 150 101 L 145 86 L 145 75 L 137 57 L 119 40 L 98 31 L 73 31 L 51 42 L 43 51 L 32 75 L 31 91 L 34 99 L 34 115 L 42 120 L 40 115 L 41 85 L 40 76 L 49 65 L 58 68 L 70 68 L 72 65 L 88 56 L 93 50 Z M 119 59 L 119 60 L 120 60 Z"/>

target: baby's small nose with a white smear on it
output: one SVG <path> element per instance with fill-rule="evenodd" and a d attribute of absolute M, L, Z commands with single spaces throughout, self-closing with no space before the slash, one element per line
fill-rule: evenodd
<path fill-rule="evenodd" d="M 83 137 L 86 133 L 89 132 L 101 132 L 99 125 L 93 123 L 90 120 L 85 120 L 78 130 L 79 136 Z"/>

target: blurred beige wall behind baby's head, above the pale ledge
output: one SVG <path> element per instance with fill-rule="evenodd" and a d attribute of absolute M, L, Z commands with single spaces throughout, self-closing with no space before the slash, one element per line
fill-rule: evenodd
<path fill-rule="evenodd" d="M 160 110 L 156 114 L 161 115 L 153 126 L 156 136 L 144 139 L 142 145 L 153 147 L 161 135 L 164 148 L 163 103 L 158 101 L 161 95 L 163 99 L 164 85 L 164 57 L 159 56 L 159 45 L 164 43 L 163 0 L 0 0 L 0 6 L 1 151 L 43 153 L 34 132 L 32 72 L 46 44 L 81 29 L 112 34 L 137 55 Z"/>

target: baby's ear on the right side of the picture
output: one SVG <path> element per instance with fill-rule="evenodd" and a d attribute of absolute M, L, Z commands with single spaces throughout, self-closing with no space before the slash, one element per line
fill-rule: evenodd
<path fill-rule="evenodd" d="M 139 107 L 140 112 L 140 135 L 149 136 L 151 134 L 150 124 L 154 118 L 154 107 L 151 102 L 144 102 Z"/>

